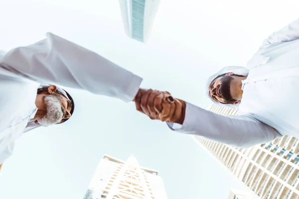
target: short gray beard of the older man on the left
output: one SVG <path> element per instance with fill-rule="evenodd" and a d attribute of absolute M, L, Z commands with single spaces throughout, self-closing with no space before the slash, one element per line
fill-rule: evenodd
<path fill-rule="evenodd" d="M 50 126 L 60 122 L 65 115 L 65 110 L 61 105 L 60 99 L 54 95 L 48 95 L 44 98 L 47 104 L 46 114 L 38 120 L 38 123 L 42 126 Z"/>

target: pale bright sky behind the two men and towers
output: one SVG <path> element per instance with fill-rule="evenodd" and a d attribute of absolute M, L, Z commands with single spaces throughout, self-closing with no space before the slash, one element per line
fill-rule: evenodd
<path fill-rule="evenodd" d="M 297 0 L 162 0 L 149 41 L 128 38 L 118 0 L 9 0 L 0 5 L 0 48 L 52 32 L 201 107 L 205 81 L 246 66 L 262 41 L 298 17 Z M 82 66 L 84 67 L 84 66 Z M 189 136 L 135 110 L 133 102 L 67 89 L 76 103 L 62 125 L 25 133 L 2 168 L 0 199 L 83 199 L 104 154 L 159 171 L 169 199 L 227 199 L 244 185 Z"/>

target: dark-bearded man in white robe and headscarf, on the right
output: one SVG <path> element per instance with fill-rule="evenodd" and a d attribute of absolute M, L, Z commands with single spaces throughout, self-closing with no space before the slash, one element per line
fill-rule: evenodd
<path fill-rule="evenodd" d="M 247 68 L 225 67 L 206 88 L 214 103 L 239 109 L 239 115 L 215 114 L 178 99 L 169 103 L 168 94 L 157 91 L 142 96 L 137 109 L 167 121 L 172 130 L 236 147 L 283 135 L 299 138 L 299 19 L 265 39 Z"/>

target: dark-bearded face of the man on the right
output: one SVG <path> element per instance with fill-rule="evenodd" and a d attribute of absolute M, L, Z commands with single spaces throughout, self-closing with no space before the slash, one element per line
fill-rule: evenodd
<path fill-rule="evenodd" d="M 238 86 L 233 74 L 228 73 L 216 78 L 209 87 L 210 96 L 221 103 L 236 104 Z"/>

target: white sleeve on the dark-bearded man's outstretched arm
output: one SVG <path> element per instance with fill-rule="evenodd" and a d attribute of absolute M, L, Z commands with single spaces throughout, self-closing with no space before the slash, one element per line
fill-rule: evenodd
<path fill-rule="evenodd" d="M 175 131 L 203 136 L 218 143 L 246 148 L 270 142 L 281 135 L 271 126 L 248 115 L 226 116 L 186 103 L 182 125 L 167 123 Z"/>

